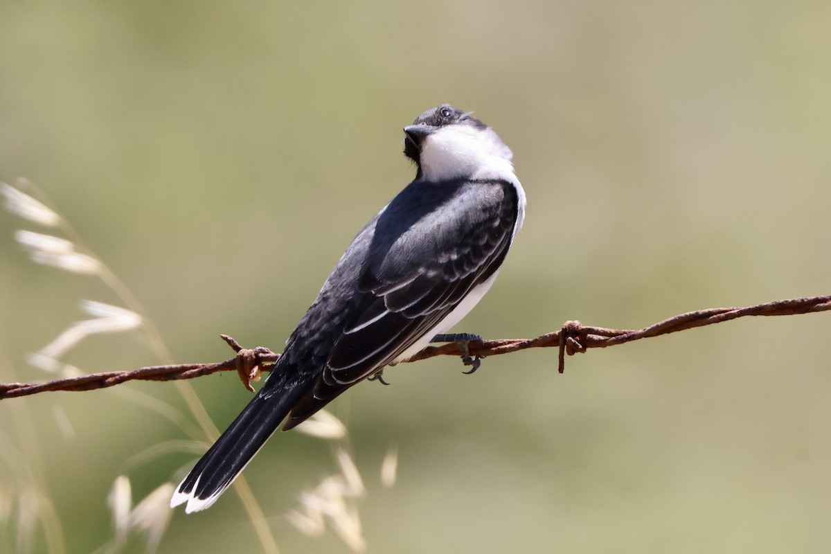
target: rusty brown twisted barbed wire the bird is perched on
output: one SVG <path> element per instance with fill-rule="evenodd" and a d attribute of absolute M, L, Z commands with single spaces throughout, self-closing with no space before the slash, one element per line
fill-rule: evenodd
<path fill-rule="evenodd" d="M 794 316 L 796 314 L 811 313 L 814 311 L 831 310 L 831 296 L 792 298 L 757 304 L 746 307 L 711 308 L 708 310 L 690 311 L 678 316 L 638 330 L 607 329 L 604 327 L 584 326 L 579 321 L 566 321 L 559 331 L 553 331 L 533 339 L 496 339 L 493 341 L 470 341 L 468 349 L 470 355 L 486 357 L 489 355 L 509 354 L 528 348 L 559 349 L 558 370 L 563 373 L 565 355 L 574 355 L 587 351 L 589 348 L 606 348 L 620 345 L 625 342 L 638 341 L 652 336 L 661 336 L 677 331 L 685 331 L 694 327 L 714 325 L 722 321 L 730 321 L 745 316 Z M 237 355 L 229 360 L 213 364 L 180 364 L 180 365 L 152 365 L 133 371 L 111 371 L 81 375 L 69 379 L 58 379 L 45 383 L 7 383 L 0 384 L 0 400 L 17 396 L 34 395 L 47 390 L 95 390 L 119 385 L 129 380 L 179 380 L 192 379 L 201 375 L 209 375 L 217 371 L 237 371 L 243 385 L 253 391 L 249 381 L 258 380 L 262 371 L 271 369 L 278 354 L 258 346 L 247 349 L 239 346 L 229 336 L 223 335 Z M 427 346 L 424 350 L 407 360 L 408 362 L 425 360 L 436 355 L 461 355 L 458 343 L 448 343 L 442 346 Z"/>

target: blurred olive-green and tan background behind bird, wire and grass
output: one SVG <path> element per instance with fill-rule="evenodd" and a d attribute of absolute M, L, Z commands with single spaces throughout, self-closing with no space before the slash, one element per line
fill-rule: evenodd
<path fill-rule="evenodd" d="M 220 332 L 278 351 L 412 178 L 401 127 L 442 102 L 494 126 L 529 199 L 459 331 L 637 328 L 827 294 L 829 21 L 829 2 L 799 1 L 2 2 L 0 179 L 47 194 L 178 362 L 228 357 Z M 0 379 L 46 379 L 26 355 L 85 317 L 79 299 L 121 302 L 29 262 L 17 228 L 38 230 L 2 215 Z M 592 351 L 564 375 L 545 350 L 472 376 L 450 358 L 388 370 L 392 386 L 332 404 L 369 551 L 828 552 L 829 317 Z M 66 361 L 160 363 L 138 336 L 92 337 Z M 220 428 L 249 397 L 234 375 L 193 385 Z M 187 413 L 174 385 L 122 387 Z M 91 552 L 112 537 L 118 474 L 138 500 L 194 461 L 128 463 L 186 435 L 112 391 L 5 400 L 0 425 L 23 453 L 0 463 L 27 466 L 2 468 L 2 552 L 27 488 L 51 499 L 66 551 Z M 348 552 L 285 517 L 335 470 L 329 444 L 296 433 L 248 467 L 282 552 Z M 32 552 L 46 547 L 37 528 Z M 229 493 L 175 512 L 159 552 L 259 548 Z"/>

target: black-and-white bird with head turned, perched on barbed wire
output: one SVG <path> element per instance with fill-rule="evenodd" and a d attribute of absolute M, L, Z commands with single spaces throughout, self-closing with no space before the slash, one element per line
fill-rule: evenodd
<path fill-rule="evenodd" d="M 292 429 L 455 326 L 493 285 L 525 216 L 513 153 L 472 112 L 404 127 L 416 179 L 357 233 L 268 379 L 179 483 L 170 507 L 210 507 L 285 420 Z"/>

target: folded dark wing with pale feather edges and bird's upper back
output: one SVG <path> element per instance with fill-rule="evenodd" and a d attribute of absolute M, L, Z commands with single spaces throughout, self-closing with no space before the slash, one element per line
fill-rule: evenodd
<path fill-rule="evenodd" d="M 514 185 L 501 181 L 416 181 L 404 189 L 353 243 L 363 264 L 352 306 L 339 312 L 347 315 L 322 375 L 283 429 L 395 360 L 491 277 L 508 252 L 517 211 Z M 360 240 L 366 244 L 356 246 Z M 349 266 L 352 249 L 332 277 Z"/>

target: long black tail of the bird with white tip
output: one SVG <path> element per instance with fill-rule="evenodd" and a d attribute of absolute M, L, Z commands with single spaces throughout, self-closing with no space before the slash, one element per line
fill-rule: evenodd
<path fill-rule="evenodd" d="M 282 376 L 282 375 L 281 375 Z M 272 375 L 277 378 L 278 375 Z M 216 502 L 219 495 L 229 488 L 243 471 L 254 454 L 263 448 L 278 425 L 285 419 L 297 400 L 311 383 L 298 383 L 288 387 L 266 382 L 257 395 L 234 419 L 228 429 L 210 447 L 208 452 L 179 483 L 170 507 L 188 503 L 185 512 L 199 512 Z"/>

